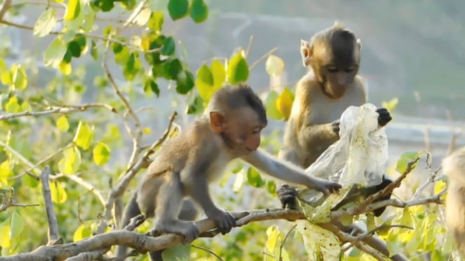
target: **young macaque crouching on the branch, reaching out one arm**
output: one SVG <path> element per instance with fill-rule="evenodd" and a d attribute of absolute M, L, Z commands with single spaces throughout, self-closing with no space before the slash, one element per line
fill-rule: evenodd
<path fill-rule="evenodd" d="M 195 223 L 178 216 L 183 198 L 190 197 L 215 221 L 222 234 L 229 232 L 236 220 L 216 207 L 208 193 L 208 184 L 220 178 L 227 163 L 235 158 L 272 177 L 315 188 L 324 195 L 341 188 L 258 149 L 260 133 L 266 124 L 262 100 L 250 87 L 238 84 L 217 91 L 204 117 L 196 119 L 160 149 L 127 205 L 122 228 L 130 218 L 142 213 L 155 217 L 154 231 L 183 235 L 184 243 L 189 243 L 199 236 L 199 229 Z M 118 254 L 124 253 L 125 248 Z M 155 254 L 151 257 L 155 259 Z"/>

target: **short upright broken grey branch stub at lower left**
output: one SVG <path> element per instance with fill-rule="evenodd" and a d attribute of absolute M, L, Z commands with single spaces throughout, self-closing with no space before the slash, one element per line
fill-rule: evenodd
<path fill-rule="evenodd" d="M 39 176 L 42 184 L 43 200 L 45 202 L 45 213 L 47 214 L 48 220 L 48 244 L 52 241 L 59 240 L 58 235 L 58 222 L 55 210 L 53 209 L 52 193 L 50 192 L 50 184 L 48 183 L 48 177 L 50 175 L 50 166 L 45 166 L 43 172 Z"/>

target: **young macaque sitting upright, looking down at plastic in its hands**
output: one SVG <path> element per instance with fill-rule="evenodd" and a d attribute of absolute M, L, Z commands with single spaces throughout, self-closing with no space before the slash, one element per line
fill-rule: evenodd
<path fill-rule="evenodd" d="M 366 103 L 364 82 L 357 75 L 361 49 L 354 33 L 337 22 L 316 33 L 310 42 L 301 40 L 303 66 L 309 70 L 297 83 L 279 158 L 307 168 L 339 140 L 341 114 L 349 106 Z M 377 112 L 379 126 L 391 121 L 385 108 Z M 294 208 L 295 195 L 287 184 L 278 189 L 283 206 Z"/>

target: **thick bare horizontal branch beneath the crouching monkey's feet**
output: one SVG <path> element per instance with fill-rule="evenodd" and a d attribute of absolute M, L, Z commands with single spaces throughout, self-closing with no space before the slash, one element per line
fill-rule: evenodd
<path fill-rule="evenodd" d="M 236 218 L 241 218 L 237 222 L 237 227 L 248 224 L 250 222 L 256 221 L 265 221 L 265 220 L 276 220 L 283 219 L 288 221 L 295 221 L 297 219 L 306 219 L 305 215 L 301 211 L 290 210 L 290 209 L 256 209 L 243 212 L 235 212 L 233 215 Z M 136 219 L 134 219 L 136 220 Z M 132 222 L 132 221 L 131 221 Z M 136 222 L 136 221 L 134 221 Z M 203 219 L 196 222 L 197 227 L 201 232 L 201 236 L 208 234 L 210 231 L 217 231 L 215 229 L 215 223 L 210 219 Z M 380 253 L 387 252 L 385 245 L 381 245 L 381 249 L 368 249 L 369 247 L 365 244 L 369 244 L 370 241 L 377 240 L 375 237 L 364 239 L 364 244 L 357 242 L 357 237 L 352 237 L 345 232 L 341 232 L 340 228 L 334 224 L 325 223 L 317 224 L 321 225 L 322 228 L 329 229 L 331 232 L 335 232 L 338 237 L 341 237 L 341 241 L 354 242 L 354 245 L 359 247 L 362 251 L 373 255 L 375 258 L 379 258 Z M 80 253 L 92 253 L 94 251 L 101 251 L 104 249 L 109 249 L 113 245 L 124 245 L 136 249 L 139 253 L 145 253 L 147 251 L 159 251 L 164 248 L 169 248 L 175 244 L 178 244 L 183 239 L 182 236 L 178 234 L 162 234 L 159 237 L 150 237 L 145 234 L 139 234 L 136 232 L 130 232 L 127 230 L 117 230 L 113 232 L 107 232 L 104 234 L 97 234 L 94 237 L 83 239 L 71 244 L 63 244 L 57 246 L 41 246 L 31 253 L 23 253 L 20 255 L 13 255 L 6 257 L 4 260 L 50 260 L 50 257 L 55 258 L 55 260 L 64 260 L 66 258 L 71 258 Z M 371 246 L 371 244 L 369 244 Z M 373 246 L 378 246 L 373 244 Z M 371 246 L 373 248 L 373 246 Z M 384 248 L 383 248 L 384 246 Z M 82 259 L 80 259 L 82 260 Z M 405 259 L 397 259 L 405 260 Z"/>

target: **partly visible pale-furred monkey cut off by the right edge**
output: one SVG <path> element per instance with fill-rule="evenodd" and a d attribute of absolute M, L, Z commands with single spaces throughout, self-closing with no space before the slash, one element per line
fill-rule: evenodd
<path fill-rule="evenodd" d="M 445 221 L 459 254 L 465 258 L 465 147 L 443 159 L 443 170 L 449 177 Z"/>

